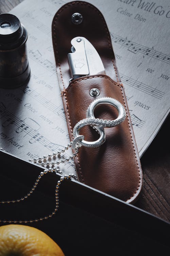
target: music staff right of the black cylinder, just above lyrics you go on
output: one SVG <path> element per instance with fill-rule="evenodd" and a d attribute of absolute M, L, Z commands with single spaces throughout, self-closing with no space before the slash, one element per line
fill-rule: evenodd
<path fill-rule="evenodd" d="M 46 68 L 48 71 L 52 72 L 52 74 L 56 73 L 56 68 L 53 63 L 48 59 L 44 59 L 42 57 L 42 54 L 38 50 L 32 51 L 31 49 L 28 49 L 28 55 L 29 58 L 33 59 L 35 62 Z"/>

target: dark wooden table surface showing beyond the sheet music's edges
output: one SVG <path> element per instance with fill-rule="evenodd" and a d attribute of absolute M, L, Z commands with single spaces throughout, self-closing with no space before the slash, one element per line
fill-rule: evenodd
<path fill-rule="evenodd" d="M 23 0 L 0 0 L 0 13 L 9 12 Z M 168 29 L 168 28 L 167 28 Z M 137 207 L 170 222 L 169 150 L 170 116 L 141 157 L 144 174 L 143 190 Z"/>

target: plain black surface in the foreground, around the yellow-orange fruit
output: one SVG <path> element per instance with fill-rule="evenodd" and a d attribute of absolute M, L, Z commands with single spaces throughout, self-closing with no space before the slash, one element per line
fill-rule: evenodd
<path fill-rule="evenodd" d="M 0 171 L 0 201 L 27 194 L 41 167 L 4 152 L 0 152 L 0 158 L 2 166 L 8 162 L 8 171 Z M 1 204 L 0 219 L 24 221 L 48 216 L 54 210 L 54 190 L 59 179 L 59 175 L 46 174 L 32 196 L 19 203 Z M 59 210 L 53 217 L 20 224 L 47 233 L 66 256 L 150 256 L 167 255 L 169 251 L 170 224 L 133 205 L 67 180 L 59 188 L 59 201 Z"/>

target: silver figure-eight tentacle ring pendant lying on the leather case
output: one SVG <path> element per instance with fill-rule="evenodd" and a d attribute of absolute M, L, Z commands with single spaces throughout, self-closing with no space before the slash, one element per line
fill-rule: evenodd
<path fill-rule="evenodd" d="M 115 120 L 103 120 L 103 119 L 95 118 L 94 110 L 100 104 L 113 105 L 118 110 L 118 117 Z M 79 143 L 85 147 L 98 147 L 102 145 L 106 140 L 106 133 L 105 133 L 104 127 L 114 127 L 121 124 L 126 118 L 126 111 L 124 106 L 118 100 L 109 98 L 109 97 L 103 97 L 103 98 L 98 98 L 94 100 L 88 106 L 86 116 L 87 116 L 86 119 L 80 120 L 74 126 L 73 137 L 77 138 L 78 136 L 80 136 L 79 132 L 82 127 L 86 125 L 94 126 L 94 128 L 99 132 L 100 138 L 96 141 L 81 140 L 79 141 Z"/>

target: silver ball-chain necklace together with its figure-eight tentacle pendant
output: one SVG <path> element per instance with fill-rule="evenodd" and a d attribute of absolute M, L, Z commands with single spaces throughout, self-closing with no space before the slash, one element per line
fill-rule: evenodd
<path fill-rule="evenodd" d="M 95 108 L 100 105 L 100 104 L 111 104 L 113 106 L 115 106 L 115 108 L 118 110 L 118 117 L 115 120 L 103 120 L 103 119 L 99 119 L 99 118 L 95 118 L 94 116 L 94 110 Z M 37 164 L 41 167 L 46 167 L 46 170 L 43 170 L 40 172 L 40 174 L 38 175 L 36 181 L 34 182 L 33 187 L 31 188 L 31 190 L 29 191 L 29 193 L 27 193 L 27 195 L 25 195 L 24 197 L 20 198 L 20 199 L 15 199 L 15 200 L 8 200 L 8 201 L 2 201 L 0 202 L 0 204 L 5 204 L 5 203 L 15 203 L 15 202 L 21 202 L 23 200 L 26 200 L 29 196 L 32 195 L 32 193 L 34 192 L 35 188 L 37 187 L 37 184 L 39 182 L 39 180 L 48 172 L 52 172 L 52 173 L 60 173 L 62 174 L 62 172 L 60 171 L 59 168 L 55 168 L 55 166 L 60 165 L 61 163 L 65 163 L 68 162 L 69 160 L 72 160 L 74 157 L 77 156 L 78 152 L 79 152 L 79 148 L 81 146 L 85 146 L 85 147 L 98 147 L 100 145 L 102 145 L 105 140 L 106 140 L 106 133 L 104 130 L 104 127 L 114 127 L 117 126 L 119 124 L 121 124 L 122 122 L 124 122 L 126 118 L 126 111 L 124 106 L 117 101 L 116 99 L 113 98 L 109 98 L 109 97 L 103 97 L 103 98 L 98 98 L 96 100 L 94 100 L 88 107 L 87 109 L 87 113 L 86 113 L 86 118 L 83 120 L 80 120 L 73 129 L 73 137 L 74 140 L 70 143 L 68 143 L 67 146 L 65 146 L 61 151 L 58 151 L 57 153 L 52 153 L 52 154 L 48 154 L 48 156 L 43 156 L 43 157 L 39 157 L 39 158 L 34 158 L 33 160 L 30 159 L 29 161 Z M 86 125 L 90 125 L 92 126 L 99 134 L 100 134 L 100 138 L 97 141 L 93 141 L 93 142 L 88 142 L 84 140 L 84 136 L 80 135 L 80 129 Z M 69 147 L 72 147 L 74 150 L 74 153 L 69 156 L 69 157 L 65 157 L 63 155 L 63 153 L 68 150 Z M 0 148 L 0 150 L 3 151 L 3 148 Z M 58 160 L 56 160 L 56 158 L 58 157 Z M 74 180 L 78 180 L 77 176 L 74 174 L 68 174 L 68 175 L 64 175 L 60 178 L 59 181 L 57 181 L 57 185 L 55 187 L 55 208 L 54 211 L 44 217 L 40 217 L 37 219 L 30 219 L 30 220 L 0 220 L 0 222 L 3 223 L 32 223 L 32 222 L 37 222 L 37 221 L 42 221 L 43 219 L 48 219 L 50 217 L 52 217 L 58 210 L 59 207 L 59 199 L 58 199 L 58 190 L 60 187 L 60 184 L 64 181 L 64 180 L 69 180 L 69 179 L 74 179 Z"/>

